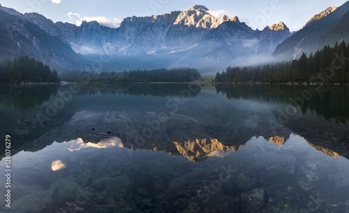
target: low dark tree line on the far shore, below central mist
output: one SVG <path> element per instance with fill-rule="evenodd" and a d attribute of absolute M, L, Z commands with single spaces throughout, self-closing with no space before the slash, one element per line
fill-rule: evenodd
<path fill-rule="evenodd" d="M 124 72 L 66 71 L 60 74 L 62 80 L 77 82 L 191 82 L 201 78 L 195 68 L 171 68 L 135 70 Z"/>

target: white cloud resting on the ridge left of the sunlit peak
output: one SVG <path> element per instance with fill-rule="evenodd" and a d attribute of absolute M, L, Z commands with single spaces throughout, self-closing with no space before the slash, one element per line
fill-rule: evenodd
<path fill-rule="evenodd" d="M 57 1 L 57 0 L 54 0 L 54 1 Z M 121 20 L 119 20 L 117 17 L 114 17 L 112 20 L 108 19 L 105 16 L 81 17 L 78 13 L 72 13 L 72 12 L 69 12 L 67 16 L 70 18 L 71 21 L 73 21 L 74 24 L 77 24 L 77 26 L 80 26 L 82 21 L 87 21 L 87 22 L 96 21 L 102 26 L 110 27 L 110 28 L 120 27 L 120 24 L 121 24 Z"/>

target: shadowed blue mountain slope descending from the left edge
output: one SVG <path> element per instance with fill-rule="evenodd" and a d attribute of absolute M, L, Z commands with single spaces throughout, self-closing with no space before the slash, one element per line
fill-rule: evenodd
<path fill-rule="evenodd" d="M 28 55 L 52 66 L 72 67 L 79 61 L 79 56 L 59 38 L 3 10 L 0 10 L 0 49 L 1 58 Z"/>

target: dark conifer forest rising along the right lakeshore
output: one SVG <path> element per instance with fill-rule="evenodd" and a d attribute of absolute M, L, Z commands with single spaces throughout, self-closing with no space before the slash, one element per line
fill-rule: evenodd
<path fill-rule="evenodd" d="M 263 82 L 263 83 L 349 83 L 349 45 L 341 44 L 305 53 L 299 59 L 265 65 L 228 67 L 216 73 L 216 82 Z"/>

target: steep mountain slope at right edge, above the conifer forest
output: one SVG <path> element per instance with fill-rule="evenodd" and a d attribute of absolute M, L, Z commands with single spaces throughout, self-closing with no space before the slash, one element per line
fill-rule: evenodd
<path fill-rule="evenodd" d="M 349 1 L 333 13 L 320 20 L 315 20 L 303 29 L 297 31 L 281 43 L 274 51 L 274 56 L 286 59 L 299 57 L 302 52 L 309 54 L 321 49 L 324 45 L 334 45 L 336 42 L 349 41 L 348 29 Z"/>

